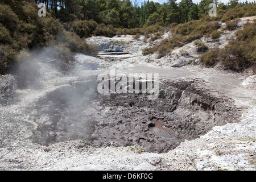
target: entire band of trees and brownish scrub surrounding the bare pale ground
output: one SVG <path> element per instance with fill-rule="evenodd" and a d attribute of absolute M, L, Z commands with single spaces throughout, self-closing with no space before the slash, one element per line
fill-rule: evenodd
<path fill-rule="evenodd" d="M 41 2 L 46 4 L 46 17 L 38 16 L 37 4 Z M 154 34 L 150 37 L 154 41 L 164 31 L 171 31 L 174 36 L 143 50 L 144 55 L 158 52 L 160 58 L 175 47 L 203 36 L 218 39 L 221 34 L 218 21 L 227 22 L 227 29 L 234 30 L 236 21 L 233 19 L 256 15 L 256 3 L 230 0 L 228 4 L 218 3 L 217 17 L 209 17 L 210 2 L 212 0 L 202 0 L 199 4 L 192 0 L 181 0 L 179 3 L 168 0 L 160 5 L 144 1 L 138 6 L 136 1 L 133 4 L 130 0 L 0 0 L 0 73 L 7 73 L 9 66 L 19 59 L 19 53 L 27 49 L 51 46 L 56 51 L 56 58 L 64 64 L 72 61 L 72 52 L 95 55 L 97 48 L 85 41 L 92 35 L 112 37 L 131 34 L 138 37 L 144 34 L 149 38 L 149 34 Z M 220 59 L 222 54 L 211 58 L 208 53 L 213 50 L 208 50 L 201 60 L 207 65 L 221 60 L 227 69 L 237 71 L 255 64 L 255 35 L 251 32 L 253 28 L 247 26 L 244 31 L 248 36 L 238 38 L 230 42 L 230 47 L 225 47 L 227 52 L 232 53 L 229 59 Z M 240 34 L 245 32 L 240 31 L 237 36 Z M 245 46 L 239 48 L 240 43 Z M 233 53 L 235 50 L 238 55 Z M 233 57 L 242 65 L 232 64 Z"/>

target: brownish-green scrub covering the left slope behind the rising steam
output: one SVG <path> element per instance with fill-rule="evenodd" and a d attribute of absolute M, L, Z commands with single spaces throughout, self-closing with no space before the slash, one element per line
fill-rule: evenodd
<path fill-rule="evenodd" d="M 87 29 L 82 32 L 84 27 Z M 7 72 L 7 68 L 15 61 L 22 61 L 17 55 L 27 48 L 54 47 L 57 50 L 57 58 L 63 65 L 73 60 L 72 52 L 96 55 L 97 48 L 80 38 L 92 35 L 96 27 L 97 23 L 92 20 L 77 21 L 73 26 L 71 23 L 65 23 L 65 28 L 70 30 L 66 31 L 63 23 L 53 18 L 50 13 L 47 13 L 47 17 L 39 17 L 38 7 L 32 1 L 15 1 L 15 6 L 0 3 L 0 73 Z M 111 31 L 113 29 L 109 26 L 106 28 Z M 75 32 L 72 32 L 74 29 Z M 109 30 L 103 32 L 109 34 Z"/>

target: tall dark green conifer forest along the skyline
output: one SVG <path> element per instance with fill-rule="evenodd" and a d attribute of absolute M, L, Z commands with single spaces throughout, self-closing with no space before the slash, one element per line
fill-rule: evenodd
<path fill-rule="evenodd" d="M 202 0 L 199 4 L 192 0 L 168 0 L 160 5 L 158 2 L 144 1 L 139 5 L 137 0 L 35 0 L 36 4 L 44 3 L 62 22 L 74 19 L 94 20 L 97 23 L 112 24 L 114 27 L 135 28 L 160 24 L 185 23 L 200 19 L 208 14 L 209 4 L 216 3 L 218 10 L 227 10 L 236 5 L 245 6 L 247 1 L 230 0 L 229 3 L 218 3 L 218 0 Z"/>

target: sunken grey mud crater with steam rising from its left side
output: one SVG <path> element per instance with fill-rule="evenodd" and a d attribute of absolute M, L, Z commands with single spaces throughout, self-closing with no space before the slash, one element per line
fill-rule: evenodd
<path fill-rule="evenodd" d="M 231 98 L 211 92 L 200 78 L 160 80 L 159 98 L 148 100 L 147 94 L 98 94 L 90 76 L 61 85 L 27 109 L 38 125 L 34 143 L 85 139 L 96 147 L 143 146 L 147 152 L 168 152 L 241 118 Z"/>

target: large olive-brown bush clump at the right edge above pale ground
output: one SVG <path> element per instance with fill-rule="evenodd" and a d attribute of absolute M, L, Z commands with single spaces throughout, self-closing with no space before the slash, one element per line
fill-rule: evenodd
<path fill-rule="evenodd" d="M 225 69 L 243 71 L 256 65 L 256 22 L 246 24 L 242 30 L 236 31 L 237 39 L 231 40 L 222 49 L 213 49 L 200 56 L 206 65 L 214 65 L 218 61 Z"/>

